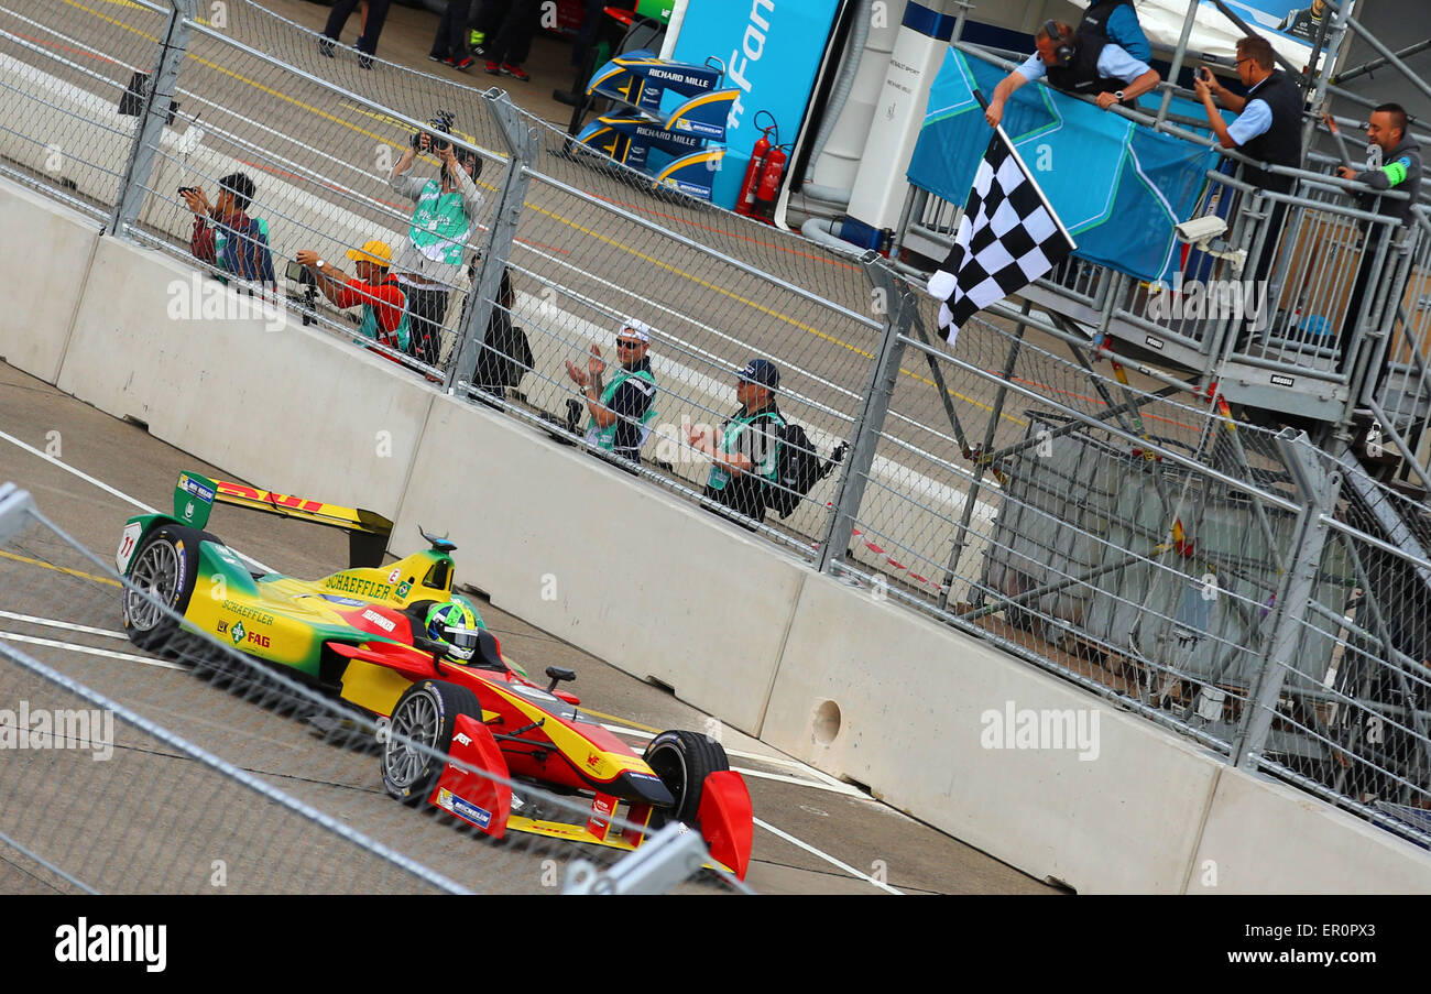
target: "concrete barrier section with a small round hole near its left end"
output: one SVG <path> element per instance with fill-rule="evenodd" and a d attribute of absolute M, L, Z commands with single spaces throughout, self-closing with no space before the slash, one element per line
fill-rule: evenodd
<path fill-rule="evenodd" d="M 1026 748 L 1025 711 L 1072 715 L 1075 734 L 1056 742 L 1066 748 L 1049 748 L 1052 737 Z M 1176 892 L 1221 765 L 986 644 L 814 575 L 761 738 L 1079 892 Z"/>

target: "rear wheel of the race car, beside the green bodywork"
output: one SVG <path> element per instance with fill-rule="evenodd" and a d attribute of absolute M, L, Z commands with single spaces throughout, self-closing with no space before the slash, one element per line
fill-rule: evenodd
<path fill-rule="evenodd" d="M 180 618 L 187 611 L 199 582 L 199 542 L 209 539 L 196 528 L 160 525 L 139 546 L 127 576 L 136 589 L 124 588 L 123 615 L 124 632 L 140 649 L 172 648 L 179 621 L 165 608 Z"/>

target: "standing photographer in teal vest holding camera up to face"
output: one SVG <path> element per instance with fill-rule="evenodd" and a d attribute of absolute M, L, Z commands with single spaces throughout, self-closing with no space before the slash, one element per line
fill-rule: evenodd
<path fill-rule="evenodd" d="M 462 272 L 462 253 L 482 210 L 482 195 L 474 182 L 481 174 L 482 163 L 475 153 L 456 153 L 451 142 L 434 139 L 426 132 L 418 136 L 416 144 L 419 152 L 435 146 L 442 160 L 442 176 L 428 180 L 405 176 L 416 154 L 411 147 L 392 167 L 389 186 L 416 203 L 408 240 L 398 252 L 392 272 L 408 300 L 408 355 L 436 365 L 448 299 Z"/>

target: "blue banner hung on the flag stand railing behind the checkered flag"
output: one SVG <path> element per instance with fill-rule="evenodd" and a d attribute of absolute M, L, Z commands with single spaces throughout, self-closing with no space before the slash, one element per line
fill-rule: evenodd
<path fill-rule="evenodd" d="M 973 89 L 987 97 L 1007 73 L 950 49 L 929 93 L 909 182 L 963 206 L 989 144 Z M 1143 97 L 1145 109 L 1156 97 Z M 1172 113 L 1203 119 L 1201 104 Z M 1003 130 L 1078 242 L 1079 257 L 1139 279 L 1171 282 L 1181 243 L 1173 226 L 1192 216 L 1205 173 L 1203 149 L 1133 124 L 1090 103 L 1029 83 L 1005 104 Z"/>

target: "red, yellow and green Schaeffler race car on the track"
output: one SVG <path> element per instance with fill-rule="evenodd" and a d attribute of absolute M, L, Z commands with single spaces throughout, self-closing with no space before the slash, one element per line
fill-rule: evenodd
<path fill-rule="evenodd" d="M 250 572 L 203 531 L 215 502 L 342 528 L 352 568 L 316 581 Z M 701 832 L 714 861 L 744 878 L 750 794 L 718 742 L 667 731 L 637 755 L 558 689 L 572 671 L 548 666 L 551 685 L 542 688 L 508 665 L 471 602 L 452 594 L 452 542 L 424 532 L 428 549 L 381 566 L 391 529 L 372 512 L 180 473 L 173 515 L 124 525 L 116 555 L 129 581 L 124 631 L 149 651 L 182 632 L 209 635 L 375 715 L 391 732 L 379 735 L 384 787 L 405 804 L 434 804 L 494 838 L 511 830 L 622 850 L 681 821 Z M 590 818 L 514 814 L 525 805 L 505 779 L 591 795 Z M 612 828 L 620 805 L 638 828 Z"/>

